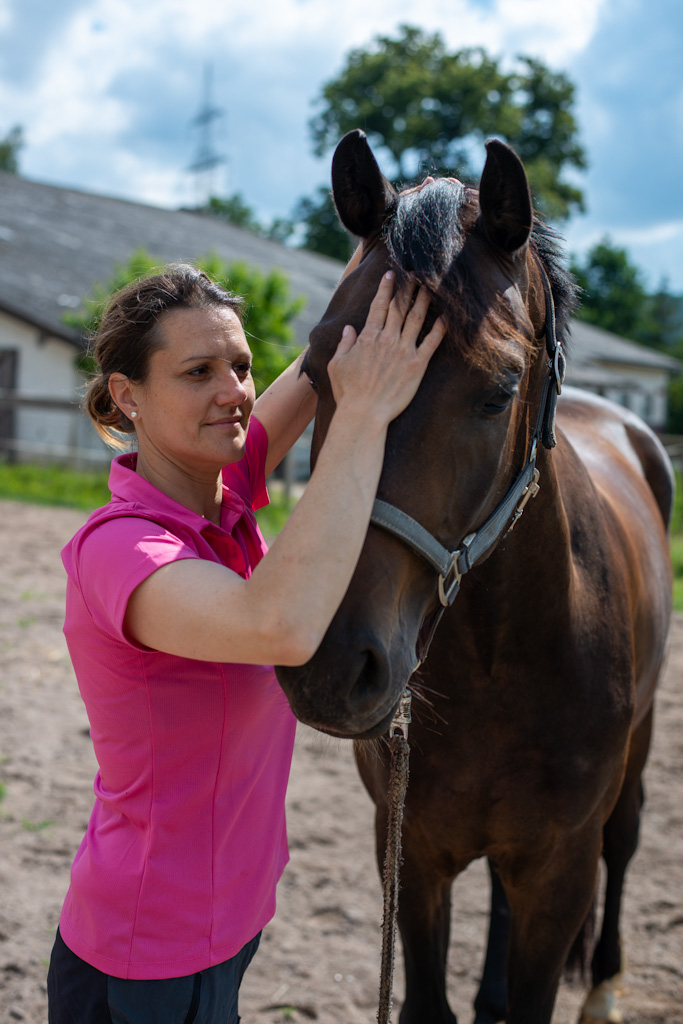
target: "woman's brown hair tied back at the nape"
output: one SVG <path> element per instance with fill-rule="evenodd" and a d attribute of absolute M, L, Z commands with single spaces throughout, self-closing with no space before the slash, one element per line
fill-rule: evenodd
<path fill-rule="evenodd" d="M 150 357 L 163 347 L 160 322 L 174 309 L 226 306 L 242 319 L 244 300 L 211 281 L 203 270 L 174 263 L 127 285 L 112 298 L 90 342 L 99 372 L 89 381 L 84 406 L 95 430 L 112 447 L 125 447 L 121 434 L 135 428 L 110 394 L 112 374 L 144 383 Z"/>

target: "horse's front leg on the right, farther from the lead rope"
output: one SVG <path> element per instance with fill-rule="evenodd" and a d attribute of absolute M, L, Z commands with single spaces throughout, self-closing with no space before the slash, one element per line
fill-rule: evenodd
<path fill-rule="evenodd" d="M 499 865 L 511 910 L 507 1024 L 550 1024 L 562 969 L 595 895 L 601 842 L 592 821 L 544 862 Z"/>

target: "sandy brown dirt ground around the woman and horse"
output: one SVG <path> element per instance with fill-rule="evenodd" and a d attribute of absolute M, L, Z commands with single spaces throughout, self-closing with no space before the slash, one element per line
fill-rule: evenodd
<path fill-rule="evenodd" d="M 47 1021 L 47 961 L 93 799 L 88 722 L 61 634 L 59 550 L 83 519 L 0 502 L 0 1024 Z M 682 677 L 677 615 L 624 907 L 627 1024 L 683 1024 Z M 292 859 L 245 979 L 243 1020 L 371 1024 L 382 900 L 373 808 L 350 744 L 301 728 L 288 805 Z M 487 898 L 477 862 L 454 887 L 449 992 L 460 1024 L 473 1016 Z M 394 991 L 395 1021 L 400 965 Z M 554 1024 L 573 1024 L 582 998 L 581 988 L 563 984 Z"/>

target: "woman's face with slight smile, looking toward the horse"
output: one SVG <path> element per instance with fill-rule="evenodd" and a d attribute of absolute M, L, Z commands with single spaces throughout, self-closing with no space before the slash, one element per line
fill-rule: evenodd
<path fill-rule="evenodd" d="M 173 310 L 159 331 L 162 347 L 135 388 L 140 452 L 215 473 L 244 455 L 254 406 L 242 325 L 228 307 L 210 306 Z"/>

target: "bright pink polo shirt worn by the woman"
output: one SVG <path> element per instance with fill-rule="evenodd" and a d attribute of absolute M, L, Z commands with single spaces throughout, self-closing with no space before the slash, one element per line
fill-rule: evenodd
<path fill-rule="evenodd" d="M 268 501 L 266 450 L 252 420 L 223 472 L 220 527 L 120 456 L 112 501 L 62 552 L 65 635 L 99 771 L 59 930 L 119 978 L 213 967 L 274 912 L 295 720 L 271 667 L 176 657 L 123 633 L 130 594 L 161 565 L 205 558 L 249 578 L 266 551 L 253 512 Z"/>

